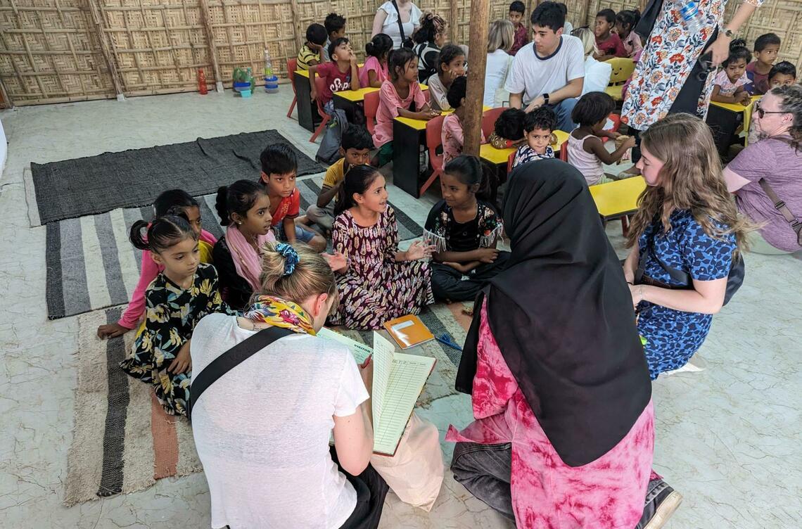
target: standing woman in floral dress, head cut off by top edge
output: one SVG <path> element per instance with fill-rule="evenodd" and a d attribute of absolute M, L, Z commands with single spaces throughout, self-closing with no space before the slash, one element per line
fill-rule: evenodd
<path fill-rule="evenodd" d="M 656 10 L 654 27 L 644 30 L 644 20 L 635 30 L 645 38 L 644 50 L 635 66 L 626 91 L 621 120 L 633 135 L 649 128 L 668 114 L 687 112 L 704 118 L 713 91 L 711 74 L 730 53 L 735 32 L 747 22 L 764 0 L 743 0 L 725 26 L 724 9 L 728 0 L 697 2 L 703 19 L 698 31 L 689 29 L 681 9 L 690 2 L 651 0 L 648 12 Z M 651 31 L 649 33 L 649 31 Z M 632 160 L 640 159 L 640 140 Z"/>

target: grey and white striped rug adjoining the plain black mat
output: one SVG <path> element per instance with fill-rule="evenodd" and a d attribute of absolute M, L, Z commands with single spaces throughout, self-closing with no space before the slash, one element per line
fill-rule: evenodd
<path fill-rule="evenodd" d="M 321 175 L 298 180 L 302 212 L 317 200 L 321 184 Z M 198 197 L 198 202 L 204 229 L 221 236 L 215 196 Z M 402 208 L 394 209 L 400 240 L 423 233 Z M 54 320 L 128 303 L 139 279 L 142 255 L 128 242 L 128 231 L 136 220 L 151 218 L 152 208 L 146 206 L 47 224 L 47 317 Z"/>

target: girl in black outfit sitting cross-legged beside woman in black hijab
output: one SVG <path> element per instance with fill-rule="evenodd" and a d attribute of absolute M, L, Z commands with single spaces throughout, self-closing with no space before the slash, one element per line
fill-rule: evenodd
<path fill-rule="evenodd" d="M 476 156 L 460 155 L 440 176 L 443 200 L 431 208 L 423 239 L 435 247 L 431 289 L 445 301 L 474 299 L 484 283 L 504 269 L 509 252 L 496 244 L 503 232 L 492 204 L 496 185 L 492 168 Z"/>

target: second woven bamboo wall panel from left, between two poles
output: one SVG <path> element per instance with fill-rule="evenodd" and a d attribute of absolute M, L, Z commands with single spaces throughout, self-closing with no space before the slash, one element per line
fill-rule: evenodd
<path fill-rule="evenodd" d="M 99 0 L 99 9 L 126 94 L 197 90 L 199 68 L 214 83 L 197 0 Z"/>

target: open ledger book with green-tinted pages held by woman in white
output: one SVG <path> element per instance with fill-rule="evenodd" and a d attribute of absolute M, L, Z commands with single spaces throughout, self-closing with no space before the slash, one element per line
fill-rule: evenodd
<path fill-rule="evenodd" d="M 320 329 L 318 336 L 347 345 L 358 364 L 373 354 L 373 451 L 394 455 L 435 358 L 396 353 L 393 342 L 376 332 L 373 349 L 330 329 Z"/>

